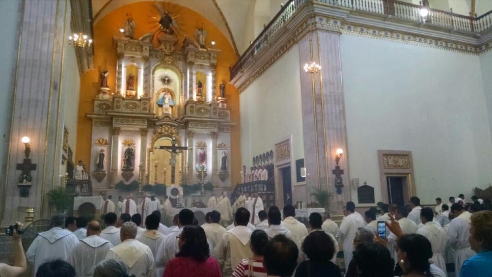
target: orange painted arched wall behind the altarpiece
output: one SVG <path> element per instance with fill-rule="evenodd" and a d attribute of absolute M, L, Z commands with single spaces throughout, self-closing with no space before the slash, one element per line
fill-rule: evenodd
<path fill-rule="evenodd" d="M 231 132 L 231 173 L 234 185 L 239 182 L 239 170 L 241 168 L 241 151 L 239 135 L 239 93 L 236 88 L 229 84 L 229 67 L 237 61 L 237 56 L 233 46 L 227 38 L 202 15 L 184 8 L 179 5 L 165 3 L 165 8 L 170 11 L 175 18 L 178 27 L 178 43 L 180 44 L 184 36 L 195 37 L 195 30 L 202 26 L 207 31 L 206 45 L 211 47 L 210 41 L 214 40 L 216 44 L 214 49 L 222 52 L 217 59 L 216 84 L 221 81 L 226 83 L 226 97 L 231 108 L 231 120 L 236 123 Z M 101 18 L 94 25 L 94 70 L 86 72 L 80 78 L 80 101 L 78 108 L 78 130 L 77 130 L 77 151 L 75 160 L 83 160 L 86 165 L 91 166 L 90 149 L 93 144 L 92 121 L 86 117 L 87 113 L 93 112 L 93 99 L 99 90 L 99 74 L 102 70 L 107 69 L 110 72 L 108 77 L 108 86 L 111 92 L 115 92 L 116 87 L 116 49 L 113 47 L 113 36 L 119 36 L 119 29 L 126 20 L 126 13 L 131 13 L 135 21 L 134 38 L 140 38 L 142 35 L 158 30 L 159 14 L 154 6 L 154 2 L 139 2 L 123 6 L 114 10 L 110 14 Z M 152 18 L 154 17 L 154 18 Z M 181 45 L 177 45 L 180 49 Z M 108 137 L 109 138 L 109 137 Z"/>

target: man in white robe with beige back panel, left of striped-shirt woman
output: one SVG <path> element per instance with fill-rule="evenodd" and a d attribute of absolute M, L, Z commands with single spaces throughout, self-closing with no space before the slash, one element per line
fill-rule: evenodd
<path fill-rule="evenodd" d="M 224 276 L 231 276 L 239 262 L 245 258 L 253 258 L 250 237 L 251 229 L 247 227 L 250 213 L 245 208 L 239 208 L 234 218 L 235 227 L 225 232 L 214 249 L 214 257 L 221 265 Z"/>

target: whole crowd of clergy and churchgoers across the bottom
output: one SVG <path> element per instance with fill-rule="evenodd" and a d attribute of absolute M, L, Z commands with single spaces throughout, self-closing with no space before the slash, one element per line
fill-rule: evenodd
<path fill-rule="evenodd" d="M 412 197 L 407 206 L 378 203 L 363 214 L 347 202 L 340 225 L 329 212 L 311 213 L 305 225 L 293 206 L 264 210 L 258 193 L 241 193 L 228 215 L 231 225 L 222 214 L 232 210 L 223 195 L 201 226 L 189 209 L 167 214 L 173 225 L 165 226 L 155 196 L 144 195 L 139 206 L 132 198 L 115 204 L 108 196 L 102 223 L 53 215 L 51 229 L 39 233 L 25 256 L 14 234 L 14 266 L 0 265 L 0 276 L 21 274 L 26 261 L 39 277 L 442 277 L 447 263 L 454 263 L 454 276 L 492 276 L 492 205 L 476 197 L 470 203 L 450 197 L 447 204 L 438 198 L 433 208 Z"/>

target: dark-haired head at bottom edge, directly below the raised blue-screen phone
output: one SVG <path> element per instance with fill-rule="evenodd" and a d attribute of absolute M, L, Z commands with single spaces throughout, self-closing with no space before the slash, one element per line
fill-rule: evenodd
<path fill-rule="evenodd" d="M 432 253 L 431 255 L 432 256 Z M 393 277 L 394 260 L 388 248 L 375 243 L 359 244 L 353 253 L 361 277 Z"/>

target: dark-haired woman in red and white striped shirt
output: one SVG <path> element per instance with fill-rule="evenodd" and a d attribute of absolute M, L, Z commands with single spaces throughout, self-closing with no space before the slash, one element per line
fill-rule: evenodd
<path fill-rule="evenodd" d="M 232 272 L 234 277 L 266 277 L 266 269 L 263 266 L 263 251 L 268 243 L 268 235 L 263 230 L 251 233 L 250 238 L 252 259 L 243 259 Z"/>

